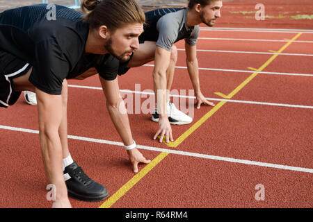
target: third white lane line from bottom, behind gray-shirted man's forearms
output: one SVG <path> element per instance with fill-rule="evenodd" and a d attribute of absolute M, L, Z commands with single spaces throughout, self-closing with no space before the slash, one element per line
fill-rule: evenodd
<path fill-rule="evenodd" d="M 154 67 L 153 64 L 145 64 L 144 67 Z M 176 69 L 187 69 L 187 67 L 175 67 Z M 243 72 L 248 74 L 253 74 L 255 71 L 252 70 L 239 70 L 239 69 L 212 69 L 212 68 L 199 68 L 199 70 L 205 71 L 230 71 L 230 72 Z M 273 72 L 273 71 L 258 71 L 259 74 L 269 74 L 269 75 L 282 75 L 282 76 L 313 76 L 313 74 L 292 74 L 287 72 Z"/>

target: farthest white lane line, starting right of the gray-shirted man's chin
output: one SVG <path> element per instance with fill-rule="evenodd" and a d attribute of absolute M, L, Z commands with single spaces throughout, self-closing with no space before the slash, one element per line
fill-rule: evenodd
<path fill-rule="evenodd" d="M 200 27 L 202 31 L 243 31 L 243 32 L 264 32 L 264 33 L 307 33 L 312 34 L 312 29 L 288 29 L 288 28 L 221 28 L 221 27 Z"/>

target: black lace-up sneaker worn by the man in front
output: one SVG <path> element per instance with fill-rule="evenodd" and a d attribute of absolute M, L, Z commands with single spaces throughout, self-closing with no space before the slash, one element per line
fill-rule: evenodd
<path fill-rule="evenodd" d="M 77 162 L 73 162 L 65 167 L 64 173 L 70 176 L 65 181 L 68 196 L 77 200 L 90 202 L 104 200 L 109 196 L 106 187 L 88 178 Z"/>

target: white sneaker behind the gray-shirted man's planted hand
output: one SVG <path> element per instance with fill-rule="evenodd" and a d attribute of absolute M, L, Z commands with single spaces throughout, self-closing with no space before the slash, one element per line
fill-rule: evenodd
<path fill-rule="evenodd" d="M 172 125 L 184 125 L 193 121 L 191 117 L 178 110 L 175 104 L 170 103 L 170 101 L 166 103 L 166 110 L 168 112 L 168 121 L 170 121 L 170 124 Z M 157 113 L 157 110 L 152 113 L 152 121 L 159 122 L 159 114 Z"/>

